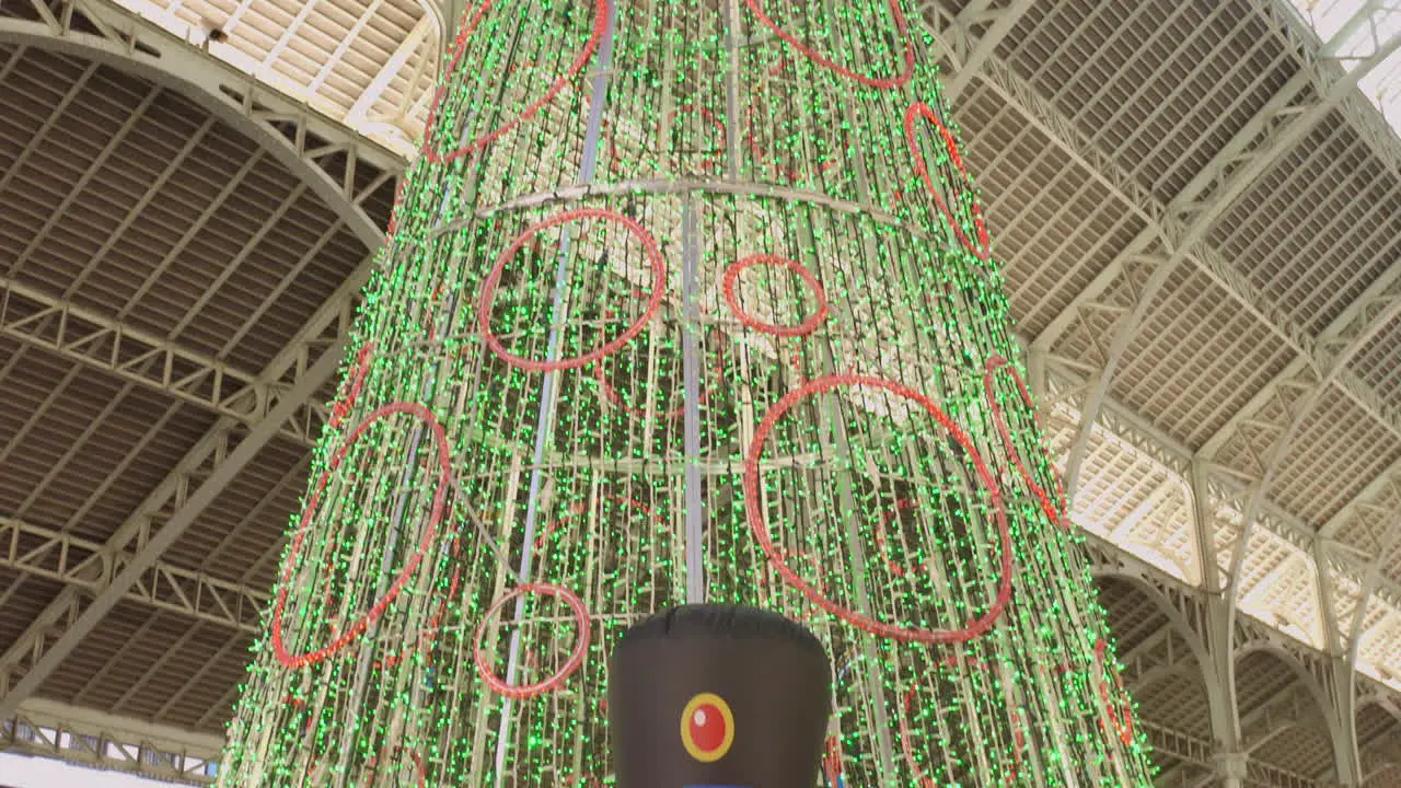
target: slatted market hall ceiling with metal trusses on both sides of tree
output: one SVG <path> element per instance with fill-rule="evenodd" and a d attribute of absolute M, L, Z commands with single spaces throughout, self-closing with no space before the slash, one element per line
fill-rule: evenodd
<path fill-rule="evenodd" d="M 1233 589 L 1289 656 L 1238 658 L 1243 725 L 1355 634 L 1366 686 L 1401 688 L 1401 144 L 1366 93 L 1394 34 L 1330 59 L 1276 0 L 922 11 L 1091 552 Z M 31 676 L 35 719 L 221 732 L 443 15 L 0 4 L 0 691 Z M 1210 742 L 1170 617 L 1100 582 L 1121 653 L 1159 667 L 1146 724 Z M 1384 709 L 1358 712 L 1374 764 L 1401 747 Z M 1203 768 L 1157 735 L 1168 773 Z M 1307 724 L 1255 754 L 1332 764 Z"/>

